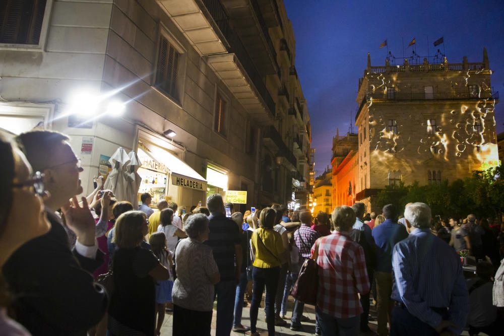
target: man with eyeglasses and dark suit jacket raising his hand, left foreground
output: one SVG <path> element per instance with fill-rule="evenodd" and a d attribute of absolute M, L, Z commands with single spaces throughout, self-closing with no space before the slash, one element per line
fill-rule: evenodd
<path fill-rule="evenodd" d="M 16 318 L 33 335 L 85 335 L 105 313 L 107 295 L 90 274 L 103 263 L 103 253 L 87 201 L 82 197 L 80 206 L 76 197 L 83 191 L 79 179 L 83 169 L 69 138 L 61 133 L 31 131 L 16 141 L 33 170 L 43 174 L 41 183 L 48 191 L 44 206 L 51 223 L 47 234 L 24 244 L 3 267 L 16 298 Z M 40 191 L 40 182 L 35 189 Z M 58 209 L 77 235 L 72 251 L 55 214 Z"/>

